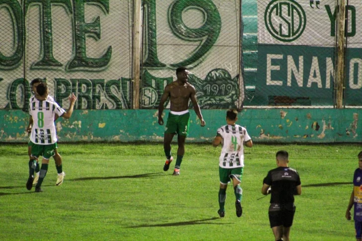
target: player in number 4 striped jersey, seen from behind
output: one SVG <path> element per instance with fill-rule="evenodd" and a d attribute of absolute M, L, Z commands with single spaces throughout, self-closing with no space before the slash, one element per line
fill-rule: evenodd
<path fill-rule="evenodd" d="M 226 188 L 230 179 L 233 181 L 236 197 L 236 216 L 241 217 L 243 213 L 241 207 L 243 189 L 240 187 L 240 183 L 244 169 L 244 145 L 253 147 L 253 141 L 244 127 L 235 124 L 237 120 L 238 111 L 229 109 L 226 112 L 227 125 L 217 130 L 217 135 L 212 142 L 214 147 L 222 144 L 219 158 L 220 189 L 218 199 L 220 209 L 217 211 L 221 218 L 225 216 Z"/>

